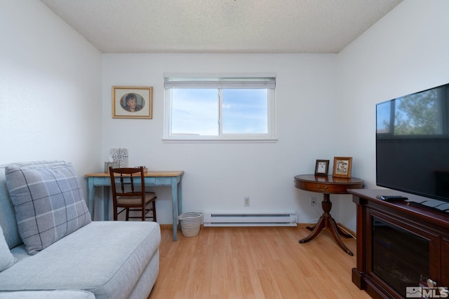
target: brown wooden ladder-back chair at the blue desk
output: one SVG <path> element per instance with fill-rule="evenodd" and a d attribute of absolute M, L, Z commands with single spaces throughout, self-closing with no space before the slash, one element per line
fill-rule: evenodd
<path fill-rule="evenodd" d="M 145 176 L 143 167 L 136 168 L 112 168 L 109 167 L 111 176 L 112 202 L 114 204 L 114 221 L 117 216 L 126 211 L 126 221 L 129 218 L 152 218 L 156 222 L 156 194 L 145 192 Z M 137 188 L 136 188 L 137 187 Z M 121 211 L 117 212 L 118 209 Z M 129 216 L 130 211 L 141 211 L 141 216 Z M 147 216 L 153 211 L 152 216 Z"/>

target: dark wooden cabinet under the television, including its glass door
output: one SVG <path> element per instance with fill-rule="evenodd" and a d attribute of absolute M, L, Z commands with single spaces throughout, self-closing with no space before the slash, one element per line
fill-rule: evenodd
<path fill-rule="evenodd" d="M 364 189 L 349 193 L 357 207 L 357 262 L 352 282 L 373 298 L 407 298 L 408 287 L 421 286 L 420 281 L 429 284 L 430 280 L 436 288 L 427 290 L 436 294 L 431 298 L 448 297 L 449 214 L 417 204 L 428 198 L 401 191 Z M 387 202 L 378 199 L 381 195 L 401 195 L 408 200 Z M 389 228 L 389 236 L 397 242 L 376 236 L 376 223 Z M 415 244 L 402 243 L 402 235 L 410 236 Z M 427 250 L 417 246 L 418 242 L 424 243 Z M 383 272 L 382 263 L 391 267 Z M 423 268 L 426 271 L 421 272 Z M 428 298 L 424 294 L 421 297 Z"/>

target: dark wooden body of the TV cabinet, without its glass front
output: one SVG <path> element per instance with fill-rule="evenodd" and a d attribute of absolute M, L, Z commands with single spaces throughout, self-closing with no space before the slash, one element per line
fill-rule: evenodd
<path fill-rule="evenodd" d="M 373 219 L 380 219 L 426 240 L 429 243 L 429 277 L 424 277 L 424 280 L 431 279 L 438 287 L 449 286 L 449 214 L 421 207 L 413 202 L 385 202 L 377 199 L 380 195 L 403 195 L 410 201 L 418 197 L 408 193 L 388 189 L 351 189 L 348 192 L 353 195 L 353 202 L 357 205 L 357 253 L 356 267 L 352 269 L 352 282 L 358 288 L 365 290 L 373 298 L 406 298 L 391 286 L 391 281 L 384 281 L 374 270 Z M 408 248 L 410 247 L 413 246 Z M 420 260 L 417 253 L 410 258 L 411 251 L 404 251 L 399 258 L 408 258 L 410 264 L 414 260 Z M 417 281 L 411 286 L 420 285 Z"/>

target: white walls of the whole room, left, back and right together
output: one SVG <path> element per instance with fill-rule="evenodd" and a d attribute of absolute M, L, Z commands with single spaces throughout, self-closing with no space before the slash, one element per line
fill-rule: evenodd
<path fill-rule="evenodd" d="M 130 165 L 185 170 L 185 211 L 294 210 L 307 223 L 320 196 L 293 176 L 352 156 L 375 188 L 375 103 L 449 82 L 448 6 L 403 1 L 338 55 L 101 55 L 39 1 L 0 0 L 0 164 L 63 159 L 82 176 L 125 147 Z M 164 72 L 239 71 L 277 74 L 277 143 L 162 142 Z M 154 118 L 113 119 L 112 85 L 153 86 Z M 159 222 L 171 223 L 170 193 L 156 192 Z M 354 230 L 351 196 L 331 198 Z"/>

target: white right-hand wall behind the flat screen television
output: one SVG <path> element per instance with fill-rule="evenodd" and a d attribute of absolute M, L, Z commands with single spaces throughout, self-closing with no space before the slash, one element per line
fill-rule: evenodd
<path fill-rule="evenodd" d="M 349 116 L 340 130 L 351 138 L 336 142 L 357 157 L 354 176 L 366 188 L 376 188 L 375 104 L 449 83 L 448 12 L 446 0 L 403 1 L 338 55 L 340 109 Z M 355 223 L 350 200 L 340 213 Z"/>

